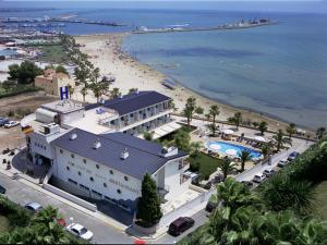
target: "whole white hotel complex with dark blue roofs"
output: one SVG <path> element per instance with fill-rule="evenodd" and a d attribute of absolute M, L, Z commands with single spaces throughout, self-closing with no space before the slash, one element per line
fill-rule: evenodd
<path fill-rule="evenodd" d="M 72 101 L 43 105 L 22 121 L 28 151 L 36 164 L 51 167 L 57 186 L 72 194 L 133 212 L 142 180 L 149 173 L 162 203 L 172 201 L 191 184 L 184 174 L 187 155 L 133 136 L 178 128 L 169 101 L 158 93 L 141 91 L 88 107 Z"/>

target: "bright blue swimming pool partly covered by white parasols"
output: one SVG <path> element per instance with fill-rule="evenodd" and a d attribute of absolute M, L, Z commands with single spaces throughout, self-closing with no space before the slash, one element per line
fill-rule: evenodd
<path fill-rule="evenodd" d="M 230 156 L 240 156 L 242 150 L 247 150 L 251 152 L 252 158 L 261 158 L 262 154 L 257 150 L 244 147 L 244 146 L 239 146 L 235 144 L 231 143 L 226 143 L 226 142 L 207 142 L 206 147 L 208 150 L 215 151 L 215 152 L 222 152 L 227 154 Z"/>

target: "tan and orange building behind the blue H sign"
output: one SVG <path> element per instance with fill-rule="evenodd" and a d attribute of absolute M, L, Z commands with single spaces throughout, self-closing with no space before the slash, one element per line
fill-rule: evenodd
<path fill-rule="evenodd" d="M 49 95 L 60 96 L 60 87 L 75 87 L 75 82 L 65 73 L 57 73 L 55 69 L 47 69 L 44 75 L 35 77 L 35 86 L 44 88 Z"/>

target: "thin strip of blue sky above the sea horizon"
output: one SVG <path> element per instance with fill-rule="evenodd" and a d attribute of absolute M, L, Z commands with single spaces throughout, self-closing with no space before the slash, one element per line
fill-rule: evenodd
<path fill-rule="evenodd" d="M 201 9 L 327 13 L 327 0 L 0 0 L 0 9 L 1 7 L 58 8 L 58 2 L 61 2 L 59 8 L 113 7 L 122 9 Z"/>

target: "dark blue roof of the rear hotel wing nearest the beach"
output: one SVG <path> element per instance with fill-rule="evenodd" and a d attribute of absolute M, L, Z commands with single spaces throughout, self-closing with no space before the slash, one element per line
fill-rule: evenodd
<path fill-rule="evenodd" d="M 95 109 L 97 107 L 106 107 L 118 111 L 120 115 L 160 103 L 171 98 L 157 91 L 138 91 L 138 94 L 125 95 L 122 98 L 106 100 L 104 105 L 93 103 L 85 107 L 85 110 Z"/>

